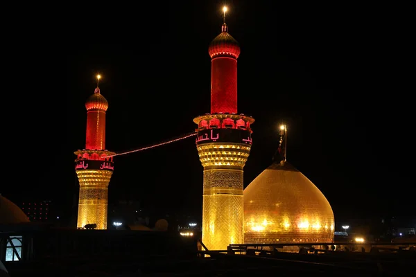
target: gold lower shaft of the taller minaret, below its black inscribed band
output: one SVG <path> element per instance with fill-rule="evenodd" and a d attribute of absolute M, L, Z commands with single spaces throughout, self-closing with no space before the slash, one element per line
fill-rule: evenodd
<path fill-rule="evenodd" d="M 243 167 L 251 147 L 207 143 L 197 148 L 204 166 L 202 243 L 209 250 L 226 250 L 244 243 Z"/>

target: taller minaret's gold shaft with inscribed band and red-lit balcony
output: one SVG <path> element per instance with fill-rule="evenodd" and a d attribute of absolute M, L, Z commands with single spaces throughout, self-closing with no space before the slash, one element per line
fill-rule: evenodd
<path fill-rule="evenodd" d="M 204 167 L 202 243 L 227 250 L 244 243 L 243 168 L 250 155 L 250 124 L 243 114 L 205 114 L 198 124 L 196 148 Z"/>

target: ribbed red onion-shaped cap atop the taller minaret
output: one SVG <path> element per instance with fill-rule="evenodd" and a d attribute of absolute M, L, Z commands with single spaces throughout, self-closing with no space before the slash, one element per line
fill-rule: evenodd
<path fill-rule="evenodd" d="M 216 56 L 239 57 L 239 42 L 229 35 L 227 24 L 223 24 L 221 30 L 222 32 L 209 44 L 209 56 L 211 58 Z"/>

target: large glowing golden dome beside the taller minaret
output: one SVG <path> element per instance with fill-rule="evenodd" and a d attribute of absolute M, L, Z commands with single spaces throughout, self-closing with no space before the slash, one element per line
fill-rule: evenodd
<path fill-rule="evenodd" d="M 245 243 L 333 242 L 327 198 L 289 163 L 272 163 L 244 190 Z"/>

